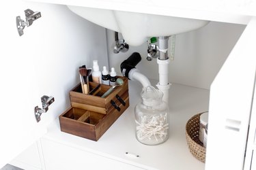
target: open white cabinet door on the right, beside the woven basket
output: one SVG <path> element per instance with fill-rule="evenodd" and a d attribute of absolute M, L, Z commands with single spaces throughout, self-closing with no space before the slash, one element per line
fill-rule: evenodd
<path fill-rule="evenodd" d="M 242 170 L 256 71 L 252 18 L 212 83 L 206 170 Z"/>

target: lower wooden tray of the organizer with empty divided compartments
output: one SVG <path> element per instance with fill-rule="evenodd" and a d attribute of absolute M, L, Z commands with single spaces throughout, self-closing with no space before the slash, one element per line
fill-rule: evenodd
<path fill-rule="evenodd" d="M 98 141 L 107 129 L 121 116 L 129 106 L 129 98 L 125 100 L 126 105 L 119 103 L 120 111 L 111 107 L 109 114 L 100 114 L 76 107 L 68 108 L 59 116 L 61 131 Z"/>

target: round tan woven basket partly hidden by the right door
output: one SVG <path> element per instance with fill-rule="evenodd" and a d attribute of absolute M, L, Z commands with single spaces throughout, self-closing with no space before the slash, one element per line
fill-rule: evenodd
<path fill-rule="evenodd" d="M 201 162 L 205 163 L 206 150 L 203 147 L 203 143 L 199 141 L 199 124 L 201 114 L 203 113 L 196 114 L 186 123 L 186 141 L 191 154 Z"/>

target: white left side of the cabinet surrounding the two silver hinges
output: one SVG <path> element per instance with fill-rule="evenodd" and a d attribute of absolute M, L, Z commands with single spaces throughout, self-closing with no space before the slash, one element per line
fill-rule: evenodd
<path fill-rule="evenodd" d="M 20 37 L 16 16 L 24 10 L 40 11 Z M 76 16 L 64 5 L 0 1 L 0 168 L 27 148 L 46 129 L 44 125 L 70 106 L 69 90 L 79 82 L 78 68 L 93 59 L 107 63 L 106 31 Z M 34 107 L 40 97 L 55 102 L 37 123 Z"/>

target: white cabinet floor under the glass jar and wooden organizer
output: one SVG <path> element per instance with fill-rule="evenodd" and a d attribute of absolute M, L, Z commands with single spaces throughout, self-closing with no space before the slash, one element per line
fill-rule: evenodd
<path fill-rule="evenodd" d="M 59 143 L 67 148 L 72 147 L 79 152 L 84 151 L 117 160 L 141 169 L 203 170 L 204 163 L 194 158 L 188 150 L 185 126 L 187 120 L 193 115 L 208 111 L 209 90 L 172 84 L 169 90 L 170 137 L 168 141 L 158 146 L 145 146 L 137 141 L 134 134 L 134 106 L 140 101 L 141 89 L 138 82 L 129 82 L 130 107 L 98 141 L 61 132 L 59 120 L 51 124 L 43 140 Z M 44 152 L 44 146 L 42 150 Z M 139 155 L 139 157 L 128 156 L 126 152 Z M 68 155 L 68 152 L 63 150 L 63 154 Z"/>

